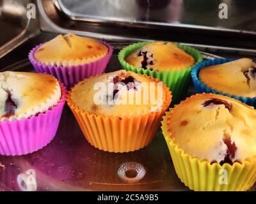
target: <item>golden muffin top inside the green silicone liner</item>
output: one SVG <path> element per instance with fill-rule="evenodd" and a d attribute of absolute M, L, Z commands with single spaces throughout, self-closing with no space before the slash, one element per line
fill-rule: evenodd
<path fill-rule="evenodd" d="M 149 43 L 132 52 L 125 61 L 132 66 L 156 71 L 186 69 L 195 59 L 171 42 Z"/>

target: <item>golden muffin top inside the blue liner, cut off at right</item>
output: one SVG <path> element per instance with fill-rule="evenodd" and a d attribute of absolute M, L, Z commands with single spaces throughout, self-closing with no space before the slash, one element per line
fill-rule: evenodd
<path fill-rule="evenodd" d="M 230 96 L 256 97 L 256 64 L 252 59 L 209 66 L 201 69 L 198 77 L 215 91 Z"/>

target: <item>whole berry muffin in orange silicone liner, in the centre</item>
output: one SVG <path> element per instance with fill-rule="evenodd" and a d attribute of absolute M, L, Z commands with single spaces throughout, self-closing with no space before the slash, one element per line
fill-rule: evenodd
<path fill-rule="evenodd" d="M 119 70 L 79 82 L 67 101 L 89 143 L 130 152 L 152 141 L 171 98 L 156 79 Z"/>

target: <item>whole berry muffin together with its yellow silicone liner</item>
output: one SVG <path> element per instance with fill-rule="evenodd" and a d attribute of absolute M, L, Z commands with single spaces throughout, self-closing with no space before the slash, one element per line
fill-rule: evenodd
<path fill-rule="evenodd" d="M 217 94 L 196 94 L 175 106 L 162 129 L 180 180 L 195 191 L 250 189 L 256 180 L 255 119 L 252 106 Z"/>

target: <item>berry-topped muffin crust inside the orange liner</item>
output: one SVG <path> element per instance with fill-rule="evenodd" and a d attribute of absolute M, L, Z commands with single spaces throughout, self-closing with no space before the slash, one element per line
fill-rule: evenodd
<path fill-rule="evenodd" d="M 152 82 L 152 87 L 150 87 L 150 82 Z M 102 87 L 94 87 L 97 83 L 103 87 L 110 87 L 109 91 L 102 89 Z M 162 85 L 162 94 L 159 92 L 157 80 L 154 78 L 139 75 L 132 71 L 118 70 L 79 82 L 72 89 L 70 97 L 72 102 L 85 112 L 102 116 L 130 117 L 153 112 L 154 108 L 156 112 L 162 110 L 164 103 L 166 103 L 166 95 L 170 95 L 170 92 L 165 91 L 163 83 L 159 82 L 159 84 Z M 144 93 L 147 94 L 144 92 L 147 89 L 151 90 L 150 96 L 156 100 L 150 101 L 148 99 L 148 103 L 143 103 L 143 97 L 148 96 L 144 96 Z M 158 97 L 157 94 L 161 94 L 162 97 Z M 141 103 L 139 101 L 136 104 L 136 98 L 139 97 L 141 97 Z M 94 99 L 97 98 L 104 99 L 106 103 L 95 103 Z"/>

